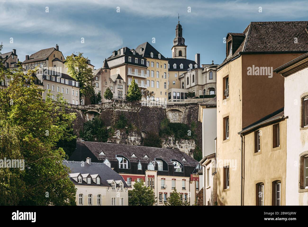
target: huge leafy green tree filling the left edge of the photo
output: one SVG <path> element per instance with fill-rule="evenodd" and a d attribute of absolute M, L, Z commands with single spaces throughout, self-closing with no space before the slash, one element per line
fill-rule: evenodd
<path fill-rule="evenodd" d="M 74 205 L 76 188 L 69 180 L 70 169 L 62 160 L 60 139 L 72 140 L 75 114 L 67 111 L 61 94 L 51 94 L 34 84 L 35 72 L 24 75 L 0 69 L 0 80 L 12 78 L 0 89 L 0 159 L 21 159 L 20 168 L 0 168 L 0 205 Z"/>

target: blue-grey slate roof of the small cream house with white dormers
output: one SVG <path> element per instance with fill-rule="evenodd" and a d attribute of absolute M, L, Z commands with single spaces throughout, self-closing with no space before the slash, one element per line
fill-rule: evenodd
<path fill-rule="evenodd" d="M 80 173 L 82 174 L 82 176 L 85 176 L 85 174 L 90 174 L 91 177 L 92 175 L 99 175 L 101 178 L 101 184 L 97 185 L 95 183 L 93 183 L 93 181 L 91 182 L 91 184 L 93 185 L 97 185 L 97 186 L 111 186 L 111 184 L 109 184 L 107 181 L 108 180 L 115 180 L 117 184 L 120 183 L 120 181 L 123 182 L 124 184 L 124 188 L 128 188 L 126 182 L 124 181 L 123 177 L 118 174 L 117 172 L 115 172 L 114 170 L 112 170 L 111 168 L 109 168 L 107 165 L 105 165 L 104 163 L 93 163 L 91 162 L 91 165 L 89 165 L 87 162 L 84 162 L 84 166 L 81 166 L 81 162 L 75 162 L 75 161 L 67 161 L 64 160 L 63 164 L 66 165 L 67 167 L 69 167 L 71 169 L 71 172 L 73 174 L 75 173 Z M 71 175 L 71 177 L 77 177 L 78 175 Z M 70 178 L 71 179 L 71 178 Z M 71 181 L 73 181 L 75 184 L 79 185 L 75 180 L 71 179 Z M 87 184 L 86 182 L 84 183 L 86 185 L 90 185 Z"/>

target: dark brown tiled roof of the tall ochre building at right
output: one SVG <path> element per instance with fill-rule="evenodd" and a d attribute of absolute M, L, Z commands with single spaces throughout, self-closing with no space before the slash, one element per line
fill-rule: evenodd
<path fill-rule="evenodd" d="M 219 68 L 240 52 L 308 52 L 307 25 L 308 21 L 251 22 L 243 33 L 228 33 L 227 39 L 231 35 L 243 40 L 232 57 L 226 57 Z M 297 43 L 294 38 L 297 38 Z"/>

